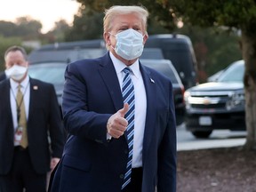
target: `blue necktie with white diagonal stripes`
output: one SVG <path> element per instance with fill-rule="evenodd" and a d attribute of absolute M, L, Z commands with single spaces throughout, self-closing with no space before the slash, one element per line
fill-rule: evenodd
<path fill-rule="evenodd" d="M 131 79 L 131 69 L 124 68 L 124 80 L 122 85 L 123 99 L 124 103 L 129 104 L 129 110 L 125 114 L 125 119 L 128 121 L 128 126 L 125 131 L 127 136 L 129 155 L 126 165 L 126 171 L 124 174 L 124 182 L 122 185 L 122 189 L 127 186 L 131 181 L 131 173 L 132 173 L 132 151 L 133 151 L 133 134 L 134 134 L 134 112 L 135 112 L 135 97 L 134 97 L 134 87 Z"/>

